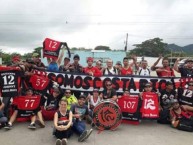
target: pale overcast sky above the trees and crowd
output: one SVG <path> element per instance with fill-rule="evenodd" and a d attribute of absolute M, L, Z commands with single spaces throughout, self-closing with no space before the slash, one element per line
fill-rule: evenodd
<path fill-rule="evenodd" d="M 32 52 L 45 38 L 124 49 L 160 37 L 193 43 L 193 0 L 0 0 L 0 49 Z"/>

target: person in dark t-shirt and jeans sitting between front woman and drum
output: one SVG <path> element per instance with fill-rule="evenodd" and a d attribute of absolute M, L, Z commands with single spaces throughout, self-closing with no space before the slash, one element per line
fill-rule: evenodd
<path fill-rule="evenodd" d="M 89 118 L 89 110 L 87 105 L 85 105 L 86 96 L 80 95 L 78 98 L 78 103 L 72 105 L 71 111 L 73 113 L 73 126 L 72 130 L 79 135 L 78 141 L 83 142 L 92 133 L 92 129 L 86 130 L 86 123 L 83 119 Z"/>

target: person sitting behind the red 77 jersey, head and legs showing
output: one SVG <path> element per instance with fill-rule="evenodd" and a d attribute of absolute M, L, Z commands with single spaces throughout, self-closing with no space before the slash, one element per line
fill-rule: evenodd
<path fill-rule="evenodd" d="M 26 96 L 33 96 L 33 90 L 31 88 L 26 90 Z M 7 125 L 4 127 L 5 129 L 12 129 L 13 123 L 16 120 L 18 114 L 20 114 L 20 110 L 18 109 L 18 105 L 20 102 L 17 102 L 17 104 L 15 104 L 14 106 L 14 112 L 11 115 L 11 118 L 9 120 L 9 122 L 7 123 Z M 32 102 L 33 104 L 35 102 Z M 26 102 L 26 105 L 28 105 L 28 102 Z M 36 116 L 37 116 L 37 112 L 40 111 L 40 108 L 38 107 L 36 110 L 33 110 L 31 113 L 31 123 L 28 126 L 29 129 L 36 129 L 36 125 L 35 125 L 35 121 L 36 121 Z"/>

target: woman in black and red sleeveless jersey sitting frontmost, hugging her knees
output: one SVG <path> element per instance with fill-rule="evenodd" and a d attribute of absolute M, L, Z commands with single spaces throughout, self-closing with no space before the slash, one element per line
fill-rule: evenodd
<path fill-rule="evenodd" d="M 71 136 L 72 111 L 67 109 L 68 101 L 61 99 L 59 109 L 54 114 L 54 128 L 56 136 L 56 145 L 66 145 L 67 138 Z"/>

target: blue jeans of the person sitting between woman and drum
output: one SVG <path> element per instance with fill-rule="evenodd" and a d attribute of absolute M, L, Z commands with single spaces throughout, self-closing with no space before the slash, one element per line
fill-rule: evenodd
<path fill-rule="evenodd" d="M 86 130 L 86 124 L 84 121 L 73 121 L 72 130 L 78 135 L 81 135 Z"/>

